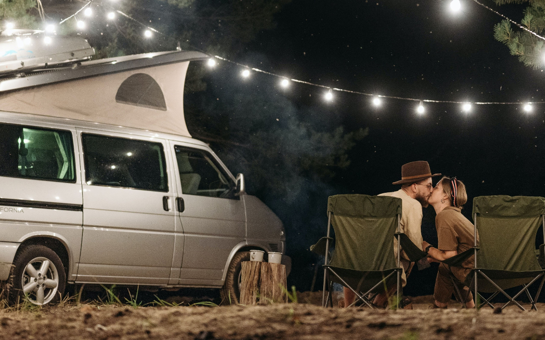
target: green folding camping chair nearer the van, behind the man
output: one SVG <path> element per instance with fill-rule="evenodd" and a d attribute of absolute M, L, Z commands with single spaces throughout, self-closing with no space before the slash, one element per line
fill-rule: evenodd
<path fill-rule="evenodd" d="M 311 251 L 325 256 L 323 307 L 328 305 L 328 301 L 332 304 L 332 285 L 336 282 L 356 294 L 357 299 L 350 306 L 361 300 L 373 308 L 367 295 L 391 285 L 396 274 L 399 301 L 402 269 L 399 264 L 399 242 L 397 258 L 393 255 L 393 238 L 396 230 L 399 232 L 401 209 L 402 201 L 396 197 L 329 197 L 327 236 L 311 246 Z M 331 225 L 335 230 L 335 249 L 332 254 Z M 326 286 L 329 288 L 327 298 Z"/>

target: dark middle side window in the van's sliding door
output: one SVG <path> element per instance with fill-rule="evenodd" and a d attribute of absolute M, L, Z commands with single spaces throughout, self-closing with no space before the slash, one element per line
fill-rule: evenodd
<path fill-rule="evenodd" d="M 161 143 L 82 133 L 89 185 L 168 192 Z"/>

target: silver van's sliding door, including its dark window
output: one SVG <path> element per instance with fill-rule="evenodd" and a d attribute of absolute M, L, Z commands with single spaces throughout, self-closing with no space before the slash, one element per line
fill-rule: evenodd
<path fill-rule="evenodd" d="M 84 183 L 77 281 L 167 284 L 174 197 L 165 140 L 92 129 L 78 133 Z"/>

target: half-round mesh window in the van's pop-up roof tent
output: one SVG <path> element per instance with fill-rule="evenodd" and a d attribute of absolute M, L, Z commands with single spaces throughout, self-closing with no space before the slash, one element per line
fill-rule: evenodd
<path fill-rule="evenodd" d="M 167 110 L 161 86 L 146 73 L 126 78 L 117 89 L 116 102 L 156 110 Z"/>

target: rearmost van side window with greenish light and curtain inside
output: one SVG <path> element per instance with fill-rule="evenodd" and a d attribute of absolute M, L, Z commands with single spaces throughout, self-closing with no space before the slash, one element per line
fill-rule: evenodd
<path fill-rule="evenodd" d="M 76 182 L 70 131 L 0 123 L 0 176 Z"/>

